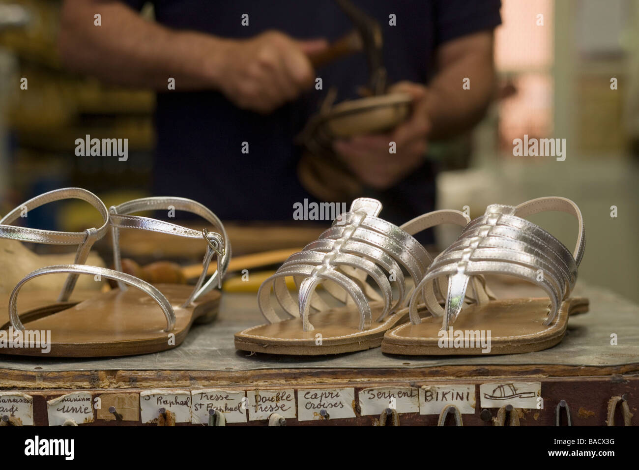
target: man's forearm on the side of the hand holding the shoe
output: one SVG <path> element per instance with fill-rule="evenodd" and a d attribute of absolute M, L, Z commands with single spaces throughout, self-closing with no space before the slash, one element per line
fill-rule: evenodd
<path fill-rule="evenodd" d="M 493 36 L 482 32 L 443 45 L 438 54 L 440 72 L 429 83 L 427 113 L 431 139 L 452 137 L 473 127 L 493 97 Z M 468 78 L 470 88 L 463 89 Z"/>

